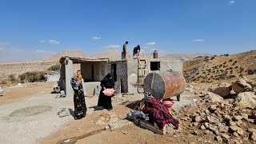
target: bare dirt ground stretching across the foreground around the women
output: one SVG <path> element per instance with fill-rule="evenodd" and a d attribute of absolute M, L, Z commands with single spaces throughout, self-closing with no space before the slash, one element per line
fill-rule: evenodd
<path fill-rule="evenodd" d="M 56 94 L 50 94 L 53 84 L 38 82 L 6 89 L 4 96 L 0 97 L 0 143 L 217 143 L 214 134 L 182 120 L 186 115 L 198 112 L 200 106 L 202 109 L 200 103 L 174 112 L 179 128 L 166 135 L 154 134 L 134 124 L 109 131 L 104 130 L 105 126 L 126 118 L 130 107 L 142 95 L 115 96 L 114 110 L 111 111 L 94 111 L 98 98 L 86 98 L 86 118 L 74 120 L 72 115 L 58 117 L 60 108 L 66 107 L 72 111 L 74 104 L 73 98 L 55 98 Z M 185 95 L 188 99 L 198 99 L 196 94 Z M 253 124 L 247 126 L 256 128 Z M 70 138 L 75 141 L 69 142 Z M 242 139 L 242 143 L 251 142 Z"/>

